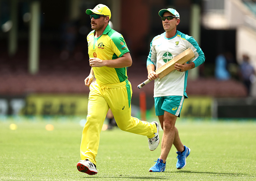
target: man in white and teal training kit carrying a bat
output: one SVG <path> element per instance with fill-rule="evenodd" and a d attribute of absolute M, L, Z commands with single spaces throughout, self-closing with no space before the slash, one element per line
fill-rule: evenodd
<path fill-rule="evenodd" d="M 156 115 L 164 131 L 161 141 L 161 155 L 153 165 L 150 172 L 164 172 L 166 159 L 172 144 L 177 149 L 177 169 L 183 169 L 186 158 L 190 154 L 190 148 L 181 143 L 178 129 L 175 127 L 177 117 L 180 116 L 184 98 L 187 98 L 187 74 L 205 60 L 204 53 L 193 37 L 177 31 L 180 23 L 179 13 L 172 8 L 161 9 L 159 16 L 162 19 L 164 33 L 157 35 L 150 43 L 150 53 L 147 58 L 147 72 L 154 83 L 154 99 Z M 195 57 L 190 63 L 183 65 L 176 63 L 175 70 L 159 79 L 155 70 L 170 61 L 173 57 L 191 48 Z"/>

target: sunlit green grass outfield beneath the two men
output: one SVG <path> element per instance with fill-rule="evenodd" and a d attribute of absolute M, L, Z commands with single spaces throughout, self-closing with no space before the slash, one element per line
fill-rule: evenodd
<path fill-rule="evenodd" d="M 256 120 L 178 119 L 181 140 L 191 153 L 186 167 L 177 170 L 172 147 L 161 173 L 148 172 L 160 155 L 160 145 L 150 151 L 147 137 L 119 128 L 102 131 L 97 175 L 76 169 L 83 129 L 79 118 L 0 120 L 0 181 L 256 180 Z M 11 123 L 17 130 L 10 130 Z M 47 131 L 47 124 L 54 130 Z"/>

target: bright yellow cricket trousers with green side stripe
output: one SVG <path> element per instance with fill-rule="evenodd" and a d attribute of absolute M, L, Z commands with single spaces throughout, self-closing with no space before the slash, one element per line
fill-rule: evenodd
<path fill-rule="evenodd" d="M 131 83 L 127 79 L 119 84 L 100 84 L 94 81 L 90 85 L 87 122 L 84 125 L 80 147 L 82 160 L 88 159 L 96 165 L 100 131 L 109 108 L 121 130 L 148 138 L 155 136 L 155 124 L 131 117 L 131 94 Z"/>

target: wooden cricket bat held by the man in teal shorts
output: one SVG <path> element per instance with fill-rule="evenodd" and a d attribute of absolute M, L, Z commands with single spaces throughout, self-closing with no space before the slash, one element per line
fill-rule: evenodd
<path fill-rule="evenodd" d="M 158 78 L 163 78 L 165 75 L 172 72 L 175 68 L 175 63 L 184 64 L 190 59 L 192 59 L 195 56 L 194 52 L 191 48 L 188 48 L 184 52 L 180 53 L 179 55 L 175 56 L 173 59 L 171 59 L 169 62 L 165 63 L 165 65 L 159 67 L 159 69 L 156 69 L 156 74 L 158 75 Z M 147 79 L 146 81 L 142 82 L 138 85 L 138 88 L 140 89 L 144 85 L 148 84 L 151 80 Z"/>

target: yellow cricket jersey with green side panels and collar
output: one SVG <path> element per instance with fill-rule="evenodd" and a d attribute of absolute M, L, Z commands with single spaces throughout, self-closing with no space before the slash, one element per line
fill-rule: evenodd
<path fill-rule="evenodd" d="M 117 59 L 129 52 L 125 40 L 119 32 L 107 25 L 103 34 L 95 38 L 94 30 L 87 35 L 88 54 L 90 58 L 102 60 Z M 93 67 L 94 76 L 102 84 L 117 84 L 125 81 L 128 76 L 126 68 Z"/>

